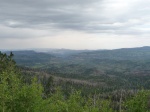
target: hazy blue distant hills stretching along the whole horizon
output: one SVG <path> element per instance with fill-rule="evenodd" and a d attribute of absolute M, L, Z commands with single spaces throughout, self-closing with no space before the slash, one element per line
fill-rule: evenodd
<path fill-rule="evenodd" d="M 9 51 L 7 51 L 9 53 Z M 42 49 L 13 51 L 14 59 L 21 65 L 35 65 L 47 63 L 50 60 L 150 60 L 150 47 L 122 48 L 115 50 L 68 50 L 68 49 Z M 61 59 L 62 58 L 62 59 Z"/>

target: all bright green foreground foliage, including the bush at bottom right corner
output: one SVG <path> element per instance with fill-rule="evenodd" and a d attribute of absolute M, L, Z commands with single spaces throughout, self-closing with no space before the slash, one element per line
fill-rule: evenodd
<path fill-rule="evenodd" d="M 44 87 L 37 78 L 23 82 L 12 57 L 0 53 L 0 112 L 115 112 L 111 100 L 97 94 L 85 97 L 71 89 L 66 95 L 62 88 L 51 92 L 52 77 Z M 150 112 L 149 104 L 150 91 L 142 90 L 124 103 L 122 112 Z"/>

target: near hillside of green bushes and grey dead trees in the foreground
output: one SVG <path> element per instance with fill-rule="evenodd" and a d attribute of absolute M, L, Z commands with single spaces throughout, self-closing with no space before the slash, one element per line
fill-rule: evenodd
<path fill-rule="evenodd" d="M 65 79 L 65 83 L 63 78 L 55 77 L 66 84 L 58 88 L 54 78 L 45 72 L 22 68 L 22 74 L 12 57 L 12 53 L 0 53 L 0 112 L 150 112 L 149 90 L 84 95 L 72 86 L 67 89 L 69 81 L 83 88 L 94 86 L 92 83 L 72 79 Z"/>

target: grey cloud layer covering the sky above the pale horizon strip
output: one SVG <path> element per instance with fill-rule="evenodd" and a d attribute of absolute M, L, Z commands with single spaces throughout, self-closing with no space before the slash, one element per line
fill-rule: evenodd
<path fill-rule="evenodd" d="M 149 12 L 150 0 L 0 0 L 0 39 L 52 38 L 64 31 L 147 38 Z"/>

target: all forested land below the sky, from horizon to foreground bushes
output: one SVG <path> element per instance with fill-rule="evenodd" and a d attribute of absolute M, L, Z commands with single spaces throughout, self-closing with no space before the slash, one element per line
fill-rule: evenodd
<path fill-rule="evenodd" d="M 149 50 L 0 53 L 0 111 L 150 112 Z"/>

